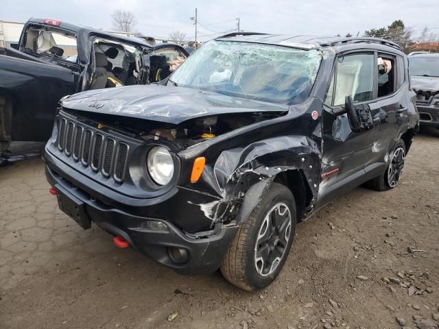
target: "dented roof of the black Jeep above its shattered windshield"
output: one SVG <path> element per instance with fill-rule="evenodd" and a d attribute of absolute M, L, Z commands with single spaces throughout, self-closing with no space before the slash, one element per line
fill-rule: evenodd
<path fill-rule="evenodd" d="M 234 32 L 219 36 L 216 40 L 233 40 L 241 42 L 257 42 L 268 45 L 282 45 L 290 46 L 299 49 L 322 49 L 324 47 L 340 47 L 348 44 L 369 44 L 369 45 L 385 45 L 398 49 L 401 47 L 396 43 L 380 38 L 366 38 L 366 37 L 350 37 L 344 38 L 340 36 L 309 36 L 300 35 L 292 36 L 287 34 L 265 34 L 257 32 Z"/>

